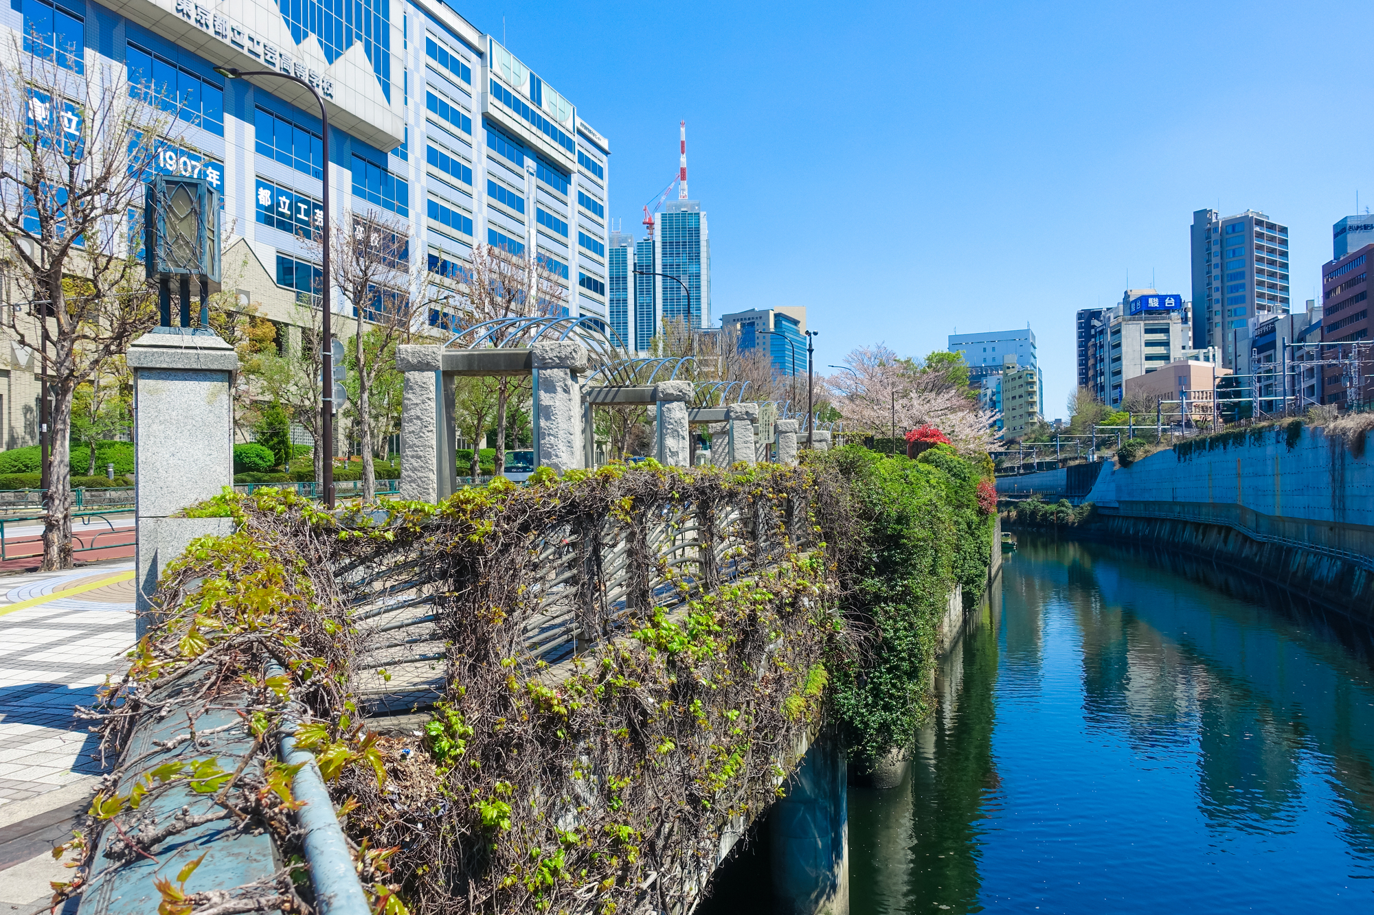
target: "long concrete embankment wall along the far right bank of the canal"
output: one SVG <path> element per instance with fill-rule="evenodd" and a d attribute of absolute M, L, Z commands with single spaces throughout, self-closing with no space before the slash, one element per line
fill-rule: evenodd
<path fill-rule="evenodd" d="M 1105 467 L 1076 536 L 1210 558 L 1374 622 L 1374 460 L 1320 427 L 1210 444 Z"/>

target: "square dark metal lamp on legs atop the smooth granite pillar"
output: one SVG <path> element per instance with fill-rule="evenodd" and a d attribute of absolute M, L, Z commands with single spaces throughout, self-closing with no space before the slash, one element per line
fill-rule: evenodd
<path fill-rule="evenodd" d="M 172 327 L 172 280 L 181 327 L 191 327 L 191 280 L 201 293 L 201 331 L 209 334 L 210 293 L 220 291 L 220 194 L 205 179 L 158 174 L 144 196 L 143 254 L 158 282 L 161 326 Z"/>

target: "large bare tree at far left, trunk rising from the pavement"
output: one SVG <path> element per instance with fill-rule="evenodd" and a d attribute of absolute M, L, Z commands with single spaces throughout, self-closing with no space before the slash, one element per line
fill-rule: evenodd
<path fill-rule="evenodd" d="M 129 214 L 172 122 L 121 71 L 33 36 L 0 63 L 0 250 L 29 315 L 16 341 L 43 353 L 52 418 L 43 569 L 71 567 L 70 431 L 76 387 L 157 323 Z"/>

